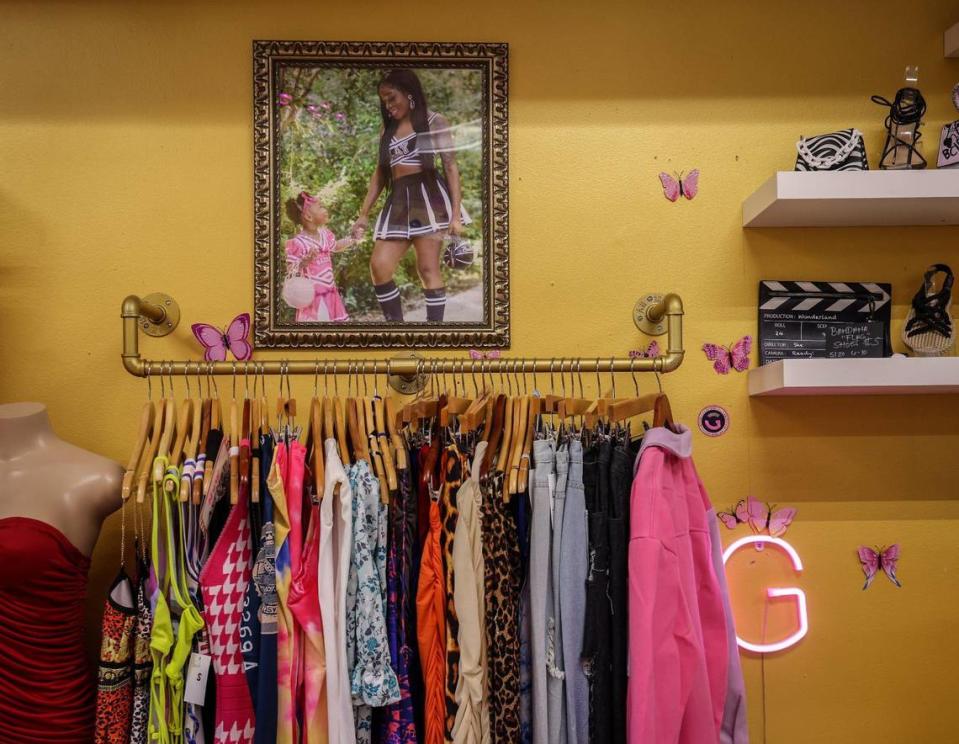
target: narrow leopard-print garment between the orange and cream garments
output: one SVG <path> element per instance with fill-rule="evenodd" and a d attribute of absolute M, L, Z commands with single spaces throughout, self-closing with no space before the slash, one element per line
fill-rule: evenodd
<path fill-rule="evenodd" d="M 440 498 L 440 550 L 443 555 L 443 573 L 446 575 L 446 740 L 453 740 L 453 725 L 456 723 L 456 687 L 460 677 L 460 622 L 453 601 L 455 577 L 453 576 L 453 533 L 459 509 L 456 507 L 456 492 L 463 483 L 465 458 L 455 444 L 443 452 L 443 491 Z"/>

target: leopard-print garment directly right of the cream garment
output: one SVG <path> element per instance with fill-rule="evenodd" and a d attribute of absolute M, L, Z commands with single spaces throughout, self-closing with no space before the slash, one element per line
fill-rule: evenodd
<path fill-rule="evenodd" d="M 503 474 L 485 478 L 483 560 L 491 744 L 520 741 L 519 597 L 522 565 L 516 520 L 503 500 Z"/>

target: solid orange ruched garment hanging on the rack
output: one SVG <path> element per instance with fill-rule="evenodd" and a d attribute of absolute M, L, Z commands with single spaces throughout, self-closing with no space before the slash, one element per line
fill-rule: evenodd
<path fill-rule="evenodd" d="M 446 579 L 440 551 L 441 531 L 440 507 L 433 500 L 416 591 L 416 636 L 425 690 L 423 744 L 443 744 L 446 733 Z"/>

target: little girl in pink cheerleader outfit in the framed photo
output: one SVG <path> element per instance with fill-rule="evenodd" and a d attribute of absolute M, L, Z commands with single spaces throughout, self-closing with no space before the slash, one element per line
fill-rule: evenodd
<path fill-rule="evenodd" d="M 313 283 L 313 302 L 298 308 L 299 322 L 343 322 L 349 320 L 346 306 L 333 279 L 330 255 L 342 253 L 355 243 L 353 238 L 337 240 L 326 227 L 330 214 L 315 196 L 301 191 L 296 199 L 286 202 L 287 216 L 300 226 L 300 231 L 286 241 L 287 274 L 303 276 Z"/>

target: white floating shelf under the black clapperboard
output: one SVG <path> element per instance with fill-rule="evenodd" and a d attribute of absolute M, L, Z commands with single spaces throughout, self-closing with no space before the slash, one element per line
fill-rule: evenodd
<path fill-rule="evenodd" d="M 749 370 L 749 394 L 959 393 L 959 357 L 783 359 Z"/>

